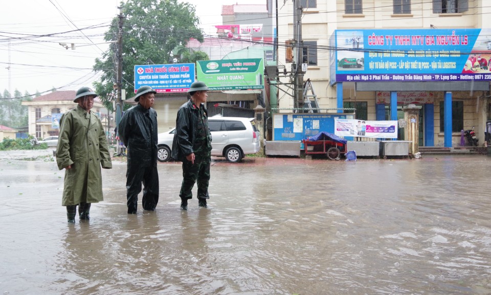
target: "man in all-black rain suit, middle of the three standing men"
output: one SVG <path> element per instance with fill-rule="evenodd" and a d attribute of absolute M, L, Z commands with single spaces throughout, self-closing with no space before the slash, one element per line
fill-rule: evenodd
<path fill-rule="evenodd" d="M 138 194 L 143 188 L 144 210 L 155 210 L 159 201 L 157 172 L 157 112 L 153 107 L 155 93 L 151 87 L 138 89 L 138 104 L 127 110 L 119 123 L 119 136 L 127 147 L 126 199 L 128 214 L 137 214 Z"/>

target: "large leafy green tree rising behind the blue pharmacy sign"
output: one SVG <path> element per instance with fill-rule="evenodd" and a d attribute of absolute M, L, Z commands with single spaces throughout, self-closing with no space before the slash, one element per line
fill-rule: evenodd
<path fill-rule="evenodd" d="M 195 7 L 177 0 L 128 0 L 121 3 L 123 20 L 122 89 L 134 93 L 135 65 L 167 64 L 172 50 L 185 46 L 190 38 L 203 41 L 198 29 Z M 94 83 L 104 106 L 113 110 L 113 86 L 116 80 L 116 58 L 119 18 L 115 17 L 104 39 L 113 41 L 102 58 L 97 58 L 94 71 L 102 71 L 100 82 Z M 113 94 L 113 95 L 111 95 Z"/>

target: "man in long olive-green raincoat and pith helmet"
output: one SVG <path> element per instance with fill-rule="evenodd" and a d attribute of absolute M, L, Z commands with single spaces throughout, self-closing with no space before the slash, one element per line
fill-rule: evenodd
<path fill-rule="evenodd" d="M 90 219 L 91 203 L 103 200 L 101 166 L 113 167 L 101 120 L 91 111 L 97 94 L 88 87 L 80 88 L 73 102 L 76 109 L 60 119 L 60 134 L 56 149 L 59 170 L 65 169 L 63 198 L 68 222 Z"/>

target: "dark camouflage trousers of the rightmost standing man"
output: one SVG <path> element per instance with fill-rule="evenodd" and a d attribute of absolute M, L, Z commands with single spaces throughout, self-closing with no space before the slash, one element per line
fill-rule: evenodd
<path fill-rule="evenodd" d="M 188 160 L 183 162 L 183 183 L 181 184 L 181 199 L 192 199 L 194 183 L 198 185 L 198 198 L 209 199 L 208 183 L 210 181 L 211 153 L 195 153 L 194 164 Z"/>

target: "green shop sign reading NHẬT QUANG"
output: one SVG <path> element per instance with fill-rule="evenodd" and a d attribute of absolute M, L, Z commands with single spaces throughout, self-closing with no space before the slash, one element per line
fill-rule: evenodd
<path fill-rule="evenodd" d="M 198 60 L 198 81 L 210 90 L 244 90 L 264 88 L 262 58 Z"/>

